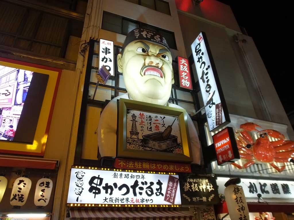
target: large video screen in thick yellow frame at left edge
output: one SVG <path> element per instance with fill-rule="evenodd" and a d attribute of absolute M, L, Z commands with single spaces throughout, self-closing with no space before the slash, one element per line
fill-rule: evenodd
<path fill-rule="evenodd" d="M 60 74 L 0 57 L 0 153 L 44 155 Z"/>

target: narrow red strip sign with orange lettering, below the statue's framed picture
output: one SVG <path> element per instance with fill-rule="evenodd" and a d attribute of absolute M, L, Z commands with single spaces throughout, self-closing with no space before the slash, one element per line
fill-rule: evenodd
<path fill-rule="evenodd" d="M 119 169 L 138 169 L 169 172 L 191 173 L 191 165 L 185 163 L 169 163 L 160 161 L 119 159 L 114 161 L 114 167 Z"/>

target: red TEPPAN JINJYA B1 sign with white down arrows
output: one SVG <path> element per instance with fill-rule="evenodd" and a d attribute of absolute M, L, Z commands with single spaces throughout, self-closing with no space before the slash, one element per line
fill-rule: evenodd
<path fill-rule="evenodd" d="M 218 165 L 240 159 L 233 128 L 226 127 L 212 136 Z"/>

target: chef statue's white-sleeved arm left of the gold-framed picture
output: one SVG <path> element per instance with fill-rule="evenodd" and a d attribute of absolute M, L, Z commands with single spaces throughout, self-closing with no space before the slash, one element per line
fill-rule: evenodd
<path fill-rule="evenodd" d="M 102 157 L 116 157 L 117 99 L 102 111 L 98 125 L 98 147 Z"/>

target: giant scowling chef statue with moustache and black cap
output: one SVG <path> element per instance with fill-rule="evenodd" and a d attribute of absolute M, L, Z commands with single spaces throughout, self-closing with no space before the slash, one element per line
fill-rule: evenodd
<path fill-rule="evenodd" d="M 117 100 L 133 99 L 152 104 L 181 108 L 168 103 L 174 83 L 172 56 L 166 40 L 151 30 L 136 28 L 126 36 L 117 56 L 118 72 L 123 73 L 127 93 L 112 99 L 101 114 L 98 146 L 103 157 L 116 156 Z M 197 131 L 189 116 L 188 127 L 193 163 L 200 164 Z"/>

